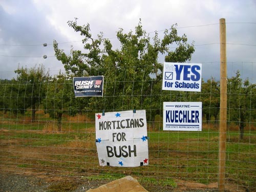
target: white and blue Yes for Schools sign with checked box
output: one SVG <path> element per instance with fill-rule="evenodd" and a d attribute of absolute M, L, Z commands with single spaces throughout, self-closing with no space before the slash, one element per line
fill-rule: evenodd
<path fill-rule="evenodd" d="M 164 62 L 162 90 L 201 91 L 201 63 Z"/>

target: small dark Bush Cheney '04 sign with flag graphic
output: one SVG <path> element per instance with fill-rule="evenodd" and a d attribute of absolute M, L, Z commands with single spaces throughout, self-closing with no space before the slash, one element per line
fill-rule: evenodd
<path fill-rule="evenodd" d="M 73 85 L 76 97 L 102 97 L 103 76 L 74 77 Z"/>

